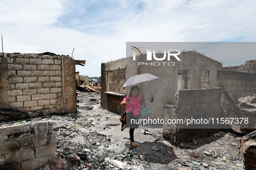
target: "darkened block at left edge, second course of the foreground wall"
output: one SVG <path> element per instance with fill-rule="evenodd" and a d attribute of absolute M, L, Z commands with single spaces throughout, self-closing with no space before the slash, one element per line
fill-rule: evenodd
<path fill-rule="evenodd" d="M 19 151 L 19 141 L 0 142 L 0 154 L 7 154 Z"/>

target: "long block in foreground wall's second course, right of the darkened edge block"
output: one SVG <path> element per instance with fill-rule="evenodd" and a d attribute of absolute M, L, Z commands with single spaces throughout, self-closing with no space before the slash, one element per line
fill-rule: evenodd
<path fill-rule="evenodd" d="M 19 139 L 19 148 L 27 149 L 33 148 L 41 145 L 47 145 L 47 136 L 46 134 L 43 135 L 30 135 L 28 137 L 23 137 Z"/>

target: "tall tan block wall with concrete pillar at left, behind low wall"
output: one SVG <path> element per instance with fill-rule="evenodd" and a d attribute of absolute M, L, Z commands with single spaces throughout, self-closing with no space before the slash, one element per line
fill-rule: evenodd
<path fill-rule="evenodd" d="M 38 110 L 40 114 L 76 111 L 75 61 L 69 57 L 10 54 L 0 58 L 0 80 L 0 109 L 28 116 Z"/>

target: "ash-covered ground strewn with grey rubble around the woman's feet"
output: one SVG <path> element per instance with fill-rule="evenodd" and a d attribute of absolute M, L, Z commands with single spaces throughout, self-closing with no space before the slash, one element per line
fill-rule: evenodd
<path fill-rule="evenodd" d="M 30 120 L 52 120 L 57 136 L 55 160 L 40 170 L 121 170 L 114 165 L 115 161 L 130 170 L 243 169 L 243 161 L 237 156 L 242 134 L 223 129 L 209 138 L 175 147 L 162 138 L 161 127 L 139 126 L 134 132 L 139 145 L 133 148 L 129 128 L 121 132 L 120 116 L 100 108 L 99 93 L 81 92 L 77 99 L 76 114 Z M 143 134 L 141 130 L 152 134 Z M 223 156 L 227 157 L 226 161 Z M 192 161 L 201 165 L 194 165 Z"/>

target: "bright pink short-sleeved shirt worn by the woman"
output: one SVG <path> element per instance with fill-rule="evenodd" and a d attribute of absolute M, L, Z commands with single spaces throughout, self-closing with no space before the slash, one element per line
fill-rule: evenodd
<path fill-rule="evenodd" d="M 126 113 L 129 113 L 129 112 L 133 111 L 133 116 L 134 117 L 139 116 L 139 111 L 140 111 L 139 104 L 140 104 L 140 101 L 141 101 L 141 97 L 140 96 L 136 96 L 135 98 L 133 98 L 133 97 L 126 96 L 125 98 L 123 98 L 122 102 L 128 100 L 128 98 L 131 101 L 130 101 L 130 104 L 126 105 Z"/>

